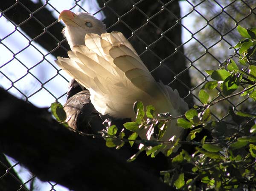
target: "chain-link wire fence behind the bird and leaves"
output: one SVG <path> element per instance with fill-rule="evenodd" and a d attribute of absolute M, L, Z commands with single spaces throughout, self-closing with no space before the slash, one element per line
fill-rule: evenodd
<path fill-rule="evenodd" d="M 58 68 L 57 56 L 67 56 L 61 34 L 63 9 L 88 11 L 104 20 L 108 31 L 125 34 L 157 80 L 178 89 L 192 106 L 200 104 L 198 91 L 216 69 L 237 53 L 229 49 L 239 41 L 236 27 L 255 27 L 255 0 L 16 0 L 0 3 L 0 86 L 40 107 L 66 101 L 70 77 Z M 222 97 L 218 89 L 210 95 Z M 249 97 L 229 99 L 211 110 L 217 120 L 229 122 Z M 54 168 L 54 167 L 52 167 Z M 0 156 L 0 188 L 13 190 L 67 190 L 53 182 L 40 182 L 19 163 Z M 7 187 L 6 187 L 7 188 Z"/>

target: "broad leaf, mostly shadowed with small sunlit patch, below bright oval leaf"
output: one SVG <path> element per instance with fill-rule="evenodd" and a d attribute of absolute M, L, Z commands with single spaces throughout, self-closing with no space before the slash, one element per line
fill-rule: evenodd
<path fill-rule="evenodd" d="M 232 92 L 236 91 L 240 84 L 240 78 L 235 75 L 228 76 L 223 82 L 223 94 L 224 96 L 230 95 Z"/>

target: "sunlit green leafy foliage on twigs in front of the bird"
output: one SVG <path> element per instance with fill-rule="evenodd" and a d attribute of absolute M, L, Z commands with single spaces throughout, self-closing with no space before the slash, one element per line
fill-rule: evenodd
<path fill-rule="evenodd" d="M 170 142 L 173 147 L 165 154 L 171 165 L 160 172 L 163 182 L 184 191 L 197 191 L 198 188 L 212 191 L 256 190 L 256 114 L 230 108 L 230 122 L 215 120 L 211 113 L 213 105 L 231 97 L 248 96 L 256 100 L 256 28 L 238 26 L 237 29 L 245 39 L 232 47 L 236 54 L 220 68 L 206 71 L 212 81 L 205 83 L 199 91 L 201 105 L 195 105 L 177 119 L 169 113 L 157 115 L 152 105 L 144 107 L 142 102 L 136 102 L 136 120 L 124 124 L 131 134 L 127 137 L 123 130 L 119 132 L 115 125 L 108 124 L 104 134 L 106 145 L 121 148 L 125 142 L 131 146 L 142 143 L 144 146 L 128 162 L 136 160 L 144 151 L 148 156 L 156 157 L 165 145 L 158 140 L 141 140 L 139 132 L 150 126 L 154 128 L 154 137 L 159 139 L 167 128 L 166 123 L 177 120 L 177 125 L 189 130 L 189 133 L 185 140 Z M 222 98 L 210 96 L 215 88 L 218 88 Z M 56 119 L 64 120 L 65 117 L 56 109 L 52 111 Z M 209 131 L 210 136 L 198 140 L 197 135 L 203 130 Z M 179 144 L 194 145 L 195 151 L 191 153 L 183 148 L 173 154 Z"/>

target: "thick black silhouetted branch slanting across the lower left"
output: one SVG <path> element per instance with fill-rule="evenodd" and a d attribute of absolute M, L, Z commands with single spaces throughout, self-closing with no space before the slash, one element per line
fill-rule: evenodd
<path fill-rule="evenodd" d="M 47 109 L 19 100 L 3 89 L 0 151 L 20 161 L 39 179 L 75 191 L 170 189 L 139 163 L 127 163 L 125 152 L 120 154 L 105 147 L 102 139 L 83 137 L 64 128 Z"/>

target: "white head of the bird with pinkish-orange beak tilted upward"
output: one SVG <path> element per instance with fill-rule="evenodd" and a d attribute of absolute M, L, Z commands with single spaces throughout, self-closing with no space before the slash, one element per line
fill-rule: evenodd
<path fill-rule="evenodd" d="M 87 33 L 101 35 L 107 32 L 105 24 L 87 12 L 73 13 L 72 11 L 64 10 L 61 11 L 58 17 L 58 21 L 60 20 L 63 20 L 66 25 L 62 33 L 71 49 L 73 49 L 74 45 L 84 45 L 84 37 Z"/>

